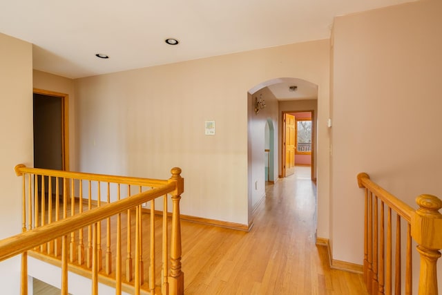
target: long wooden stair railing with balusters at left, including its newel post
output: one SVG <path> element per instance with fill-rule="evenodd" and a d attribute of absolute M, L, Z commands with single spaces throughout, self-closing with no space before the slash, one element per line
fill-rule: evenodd
<path fill-rule="evenodd" d="M 151 294 L 184 293 L 180 230 L 180 198 L 184 179 L 180 176 L 181 169 L 173 168 L 169 180 L 33 169 L 21 164 L 15 167 L 15 171 L 23 178 L 23 233 L 0 241 L 0 261 L 22 254 L 21 294 L 28 294 L 28 254 L 37 258 L 44 255 L 46 261 L 52 257 L 55 264 L 56 260 L 61 260 L 61 294 L 68 294 L 68 269 L 82 275 L 90 274 L 93 283 L 91 294 L 97 294 L 98 281 L 113 285 L 116 294 L 122 294 L 122 291 L 133 294 L 146 291 Z M 105 196 L 102 196 L 102 187 L 105 188 Z M 134 187 L 138 188 L 138 192 L 132 194 L 131 188 Z M 127 198 L 122 198 L 123 192 Z M 168 195 L 173 206 L 170 243 Z M 159 225 L 155 220 L 155 213 L 158 213 L 155 200 L 161 197 L 163 211 L 160 218 L 162 225 Z M 84 202 L 87 208 L 83 207 Z M 150 236 L 148 242 L 143 238 L 142 228 L 142 206 L 146 204 L 149 204 L 151 216 L 150 226 L 145 230 Z M 122 237 L 122 216 L 127 218 L 125 241 Z M 135 228 L 131 218 L 135 218 Z M 115 223 L 114 231 L 111 225 Z M 155 238 L 155 225 L 162 227 L 162 265 L 158 267 L 155 265 L 155 247 L 158 244 L 155 241 L 158 240 Z M 102 227 L 106 230 L 102 231 Z M 111 239 L 111 235 L 116 238 Z M 122 261 L 124 242 L 126 267 L 123 267 Z M 104 256 L 102 244 L 105 244 Z M 150 251 L 147 283 L 144 282 L 144 249 Z M 158 269 L 160 272 L 157 272 Z M 160 284 L 156 283 L 158 278 Z"/>

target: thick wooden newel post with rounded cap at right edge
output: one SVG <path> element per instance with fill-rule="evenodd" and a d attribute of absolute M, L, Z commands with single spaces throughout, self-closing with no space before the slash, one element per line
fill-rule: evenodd
<path fill-rule="evenodd" d="M 442 200 L 431 195 L 416 198 L 419 209 L 412 216 L 412 237 L 421 254 L 419 295 L 437 294 L 436 263 L 442 249 Z"/>

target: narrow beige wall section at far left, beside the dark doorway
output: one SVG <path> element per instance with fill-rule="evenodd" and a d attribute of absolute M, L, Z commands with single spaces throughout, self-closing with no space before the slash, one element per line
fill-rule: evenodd
<path fill-rule="evenodd" d="M 21 231 L 20 163 L 32 166 L 32 45 L 0 33 L 0 239 Z M 19 257 L 0 263 L 2 294 L 19 294 Z"/>

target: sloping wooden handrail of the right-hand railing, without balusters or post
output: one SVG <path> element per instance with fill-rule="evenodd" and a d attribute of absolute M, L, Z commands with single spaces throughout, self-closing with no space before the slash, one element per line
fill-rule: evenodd
<path fill-rule="evenodd" d="M 367 173 L 359 173 L 358 174 L 358 186 L 362 189 L 363 187 L 367 188 L 369 191 L 372 191 L 378 198 L 383 200 L 385 204 L 387 204 L 394 211 L 399 213 L 407 222 L 411 222 L 412 215 L 414 213 L 414 209 L 403 201 L 399 200 L 391 193 L 380 187 L 375 182 L 370 180 L 370 177 Z"/>

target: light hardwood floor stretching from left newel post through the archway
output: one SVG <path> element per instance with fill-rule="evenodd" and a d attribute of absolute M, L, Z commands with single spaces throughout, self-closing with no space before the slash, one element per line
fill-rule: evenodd
<path fill-rule="evenodd" d="M 362 275 L 330 269 L 315 245 L 309 173 L 268 186 L 249 233 L 182 222 L 185 294 L 367 294 Z"/>

